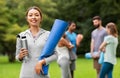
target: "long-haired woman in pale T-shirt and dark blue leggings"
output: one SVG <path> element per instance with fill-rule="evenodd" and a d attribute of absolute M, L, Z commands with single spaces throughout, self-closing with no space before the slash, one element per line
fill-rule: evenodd
<path fill-rule="evenodd" d="M 116 49 L 118 45 L 118 31 L 116 25 L 112 22 L 106 25 L 108 36 L 104 38 L 99 50 L 104 52 L 104 62 L 100 71 L 100 78 L 112 77 L 114 65 L 116 64 Z M 105 51 L 103 50 L 105 48 Z"/>

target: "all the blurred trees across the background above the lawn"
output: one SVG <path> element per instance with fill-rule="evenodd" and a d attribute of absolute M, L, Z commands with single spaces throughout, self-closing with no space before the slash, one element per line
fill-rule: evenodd
<path fill-rule="evenodd" d="M 55 19 L 75 21 L 76 33 L 84 35 L 78 54 L 90 49 L 93 16 L 101 16 L 103 26 L 116 23 L 120 33 L 120 0 L 0 0 L 0 54 L 7 54 L 10 62 L 15 61 L 16 35 L 28 28 L 25 12 L 30 6 L 41 8 L 44 29 L 50 30 Z M 117 56 L 120 56 L 119 51 L 120 45 Z"/>

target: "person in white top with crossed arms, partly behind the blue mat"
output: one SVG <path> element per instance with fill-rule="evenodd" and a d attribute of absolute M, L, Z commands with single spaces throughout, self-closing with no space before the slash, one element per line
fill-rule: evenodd
<path fill-rule="evenodd" d="M 58 53 L 57 62 L 61 68 L 61 78 L 71 78 L 69 50 L 73 47 L 74 46 L 66 39 L 66 35 L 64 34 L 58 42 L 58 46 L 56 48 Z"/>

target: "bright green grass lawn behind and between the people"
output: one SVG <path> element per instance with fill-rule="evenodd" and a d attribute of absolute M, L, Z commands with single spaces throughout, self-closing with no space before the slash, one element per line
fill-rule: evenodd
<path fill-rule="evenodd" d="M 96 78 L 91 59 L 78 58 L 74 78 Z M 0 78 L 19 78 L 21 63 L 9 63 L 6 56 L 0 56 Z M 114 67 L 113 78 L 120 78 L 120 58 Z M 56 62 L 50 64 L 49 69 L 51 78 L 61 78 L 60 68 Z"/>

